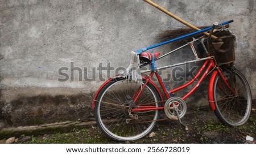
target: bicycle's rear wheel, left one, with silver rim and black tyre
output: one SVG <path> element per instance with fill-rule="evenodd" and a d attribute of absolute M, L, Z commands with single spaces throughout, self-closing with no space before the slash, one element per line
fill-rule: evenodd
<path fill-rule="evenodd" d="M 115 78 L 101 89 L 94 115 L 105 135 L 118 141 L 130 141 L 147 136 L 154 130 L 160 117 L 159 110 L 129 112 L 134 104 L 159 107 L 159 94 L 150 83 L 133 103 L 131 98 L 139 89 L 140 83 L 126 78 Z"/>

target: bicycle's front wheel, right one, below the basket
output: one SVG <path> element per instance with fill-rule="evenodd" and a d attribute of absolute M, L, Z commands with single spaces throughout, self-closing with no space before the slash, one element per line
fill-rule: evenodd
<path fill-rule="evenodd" d="M 214 113 L 222 123 L 228 126 L 241 126 L 250 117 L 251 92 L 249 84 L 241 72 L 233 70 L 225 77 L 234 94 L 217 75 L 214 79 L 213 96 L 216 110 Z"/>

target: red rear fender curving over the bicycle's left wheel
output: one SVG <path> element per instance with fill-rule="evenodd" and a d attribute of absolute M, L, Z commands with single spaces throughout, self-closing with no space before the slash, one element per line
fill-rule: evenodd
<path fill-rule="evenodd" d="M 92 109 L 92 110 L 94 110 L 94 107 L 95 107 L 95 100 L 96 100 L 96 98 L 97 98 L 97 96 L 98 96 L 98 93 L 100 93 L 101 89 L 102 89 L 107 83 L 109 83 L 110 81 L 112 81 L 113 79 L 118 78 L 118 77 L 119 77 L 119 75 L 114 76 L 113 78 L 109 78 L 108 80 L 106 80 L 106 81 L 104 82 L 104 84 L 101 85 L 100 88 L 98 88 L 96 94 L 95 94 L 94 97 L 93 97 L 93 101 L 92 101 L 92 105 L 91 105 L 91 109 Z M 146 78 L 145 76 L 142 76 L 142 79 L 147 80 L 147 78 Z M 156 86 L 156 84 L 155 84 L 152 80 L 149 80 L 148 82 L 149 82 L 150 84 L 152 84 L 152 86 L 156 89 L 156 91 L 157 91 L 158 94 L 159 94 L 160 100 L 163 101 L 163 96 L 162 96 L 162 94 L 160 93 L 160 90 L 158 89 L 158 87 Z"/>

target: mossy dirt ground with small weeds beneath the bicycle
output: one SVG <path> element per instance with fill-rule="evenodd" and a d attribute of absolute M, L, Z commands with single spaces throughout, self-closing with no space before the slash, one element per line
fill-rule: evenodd
<path fill-rule="evenodd" d="M 247 123 L 240 127 L 226 126 L 216 118 L 209 107 L 192 109 L 183 118 L 189 131 L 177 121 L 162 120 L 158 122 L 154 136 L 143 137 L 135 141 L 114 141 L 106 137 L 96 123 L 90 126 L 65 128 L 54 132 L 42 131 L 34 135 L 22 134 L 16 136 L 15 143 L 68 143 L 68 144 L 107 144 L 107 143 L 138 143 L 138 144 L 244 144 L 255 143 L 256 138 L 256 111 L 251 111 Z M 79 123 L 79 122 L 77 122 Z M 246 141 L 246 136 L 254 137 L 254 142 Z"/>

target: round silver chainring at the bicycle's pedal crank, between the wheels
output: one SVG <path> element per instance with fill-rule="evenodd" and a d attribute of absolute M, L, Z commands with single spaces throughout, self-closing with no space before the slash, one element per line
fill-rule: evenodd
<path fill-rule="evenodd" d="M 164 113 L 169 119 L 178 120 L 179 115 L 180 118 L 183 118 L 187 112 L 187 104 L 180 97 L 171 97 L 164 104 Z"/>

